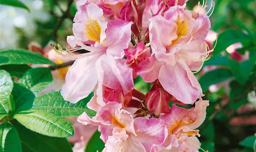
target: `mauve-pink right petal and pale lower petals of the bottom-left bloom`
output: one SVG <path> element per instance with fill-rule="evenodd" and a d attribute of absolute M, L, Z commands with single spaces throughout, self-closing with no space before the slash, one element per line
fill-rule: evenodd
<path fill-rule="evenodd" d="M 115 128 L 113 136 L 109 136 L 103 152 L 147 152 L 153 144 L 161 145 L 166 136 L 167 130 L 164 122 L 156 118 L 135 118 L 134 128 L 137 134 L 126 133 L 124 129 Z"/>

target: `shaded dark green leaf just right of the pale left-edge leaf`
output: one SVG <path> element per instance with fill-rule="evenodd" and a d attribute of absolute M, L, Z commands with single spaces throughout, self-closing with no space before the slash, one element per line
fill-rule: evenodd
<path fill-rule="evenodd" d="M 12 96 L 16 107 L 16 112 L 29 110 L 34 102 L 35 95 L 21 84 L 14 83 Z"/>

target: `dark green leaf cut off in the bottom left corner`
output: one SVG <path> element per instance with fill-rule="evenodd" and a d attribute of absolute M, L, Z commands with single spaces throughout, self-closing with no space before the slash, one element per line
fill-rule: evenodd
<path fill-rule="evenodd" d="M 1 152 L 22 152 L 19 135 L 8 122 L 0 125 L 0 143 Z"/>

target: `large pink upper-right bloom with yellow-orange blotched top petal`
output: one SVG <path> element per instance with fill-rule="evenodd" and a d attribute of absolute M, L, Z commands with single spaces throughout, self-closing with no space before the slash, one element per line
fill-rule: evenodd
<path fill-rule="evenodd" d="M 193 104 L 202 95 L 193 71 L 199 71 L 209 55 L 203 42 L 210 28 L 208 16 L 192 18 L 185 5 L 170 7 L 164 16 L 150 19 L 152 55 L 140 62 L 138 74 L 146 82 L 159 79 L 178 101 Z"/>

